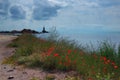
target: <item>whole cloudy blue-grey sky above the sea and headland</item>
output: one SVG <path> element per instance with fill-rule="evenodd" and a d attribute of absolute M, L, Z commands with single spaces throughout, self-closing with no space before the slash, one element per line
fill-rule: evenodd
<path fill-rule="evenodd" d="M 120 0 L 0 0 L 0 30 L 120 31 Z"/>

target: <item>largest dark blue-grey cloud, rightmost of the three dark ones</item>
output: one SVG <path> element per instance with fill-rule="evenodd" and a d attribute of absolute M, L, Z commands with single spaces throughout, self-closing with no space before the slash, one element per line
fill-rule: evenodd
<path fill-rule="evenodd" d="M 46 0 L 34 0 L 35 8 L 32 17 L 35 20 L 48 20 L 57 15 L 57 11 L 61 8 L 57 5 L 50 5 Z"/>

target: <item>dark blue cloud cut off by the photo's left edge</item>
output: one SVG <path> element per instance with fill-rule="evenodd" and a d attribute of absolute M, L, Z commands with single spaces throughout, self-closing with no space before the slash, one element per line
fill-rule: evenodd
<path fill-rule="evenodd" d="M 9 0 L 0 1 L 0 16 L 6 17 L 8 15 L 9 6 L 10 6 Z"/>

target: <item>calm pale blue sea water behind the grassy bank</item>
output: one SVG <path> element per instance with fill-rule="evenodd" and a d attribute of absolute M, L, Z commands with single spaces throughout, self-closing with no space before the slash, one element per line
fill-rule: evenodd
<path fill-rule="evenodd" d="M 69 40 L 76 41 L 77 44 L 82 44 L 83 46 L 91 46 L 97 48 L 100 42 L 109 41 L 112 44 L 118 46 L 120 44 L 120 33 L 115 32 L 88 32 L 88 33 L 79 33 L 79 32 L 64 32 L 59 31 L 59 35 Z M 48 34 L 40 34 L 39 37 L 46 38 Z"/>

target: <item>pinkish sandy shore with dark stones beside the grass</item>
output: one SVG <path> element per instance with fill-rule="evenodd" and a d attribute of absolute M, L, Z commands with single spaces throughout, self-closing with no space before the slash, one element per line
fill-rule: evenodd
<path fill-rule="evenodd" d="M 31 80 L 33 77 L 38 80 L 45 80 L 47 75 L 54 75 L 55 80 L 63 80 L 66 73 L 62 72 L 45 72 L 37 69 L 25 69 L 19 66 L 10 66 L 1 64 L 2 60 L 14 54 L 15 49 L 6 47 L 16 36 L 0 35 L 0 80 Z"/>

